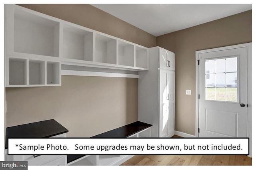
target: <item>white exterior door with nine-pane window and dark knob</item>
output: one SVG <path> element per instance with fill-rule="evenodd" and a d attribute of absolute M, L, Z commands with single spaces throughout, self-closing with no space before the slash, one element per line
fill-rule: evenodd
<path fill-rule="evenodd" d="M 199 60 L 199 137 L 247 137 L 246 47 Z"/>

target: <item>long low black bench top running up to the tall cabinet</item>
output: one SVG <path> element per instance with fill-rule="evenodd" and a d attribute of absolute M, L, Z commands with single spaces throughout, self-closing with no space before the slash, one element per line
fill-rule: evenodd
<path fill-rule="evenodd" d="M 128 125 L 115 128 L 113 130 L 110 130 L 108 132 L 104 132 L 101 134 L 98 134 L 96 136 L 92 136 L 91 138 L 126 138 L 128 136 L 131 136 L 141 130 L 144 130 L 146 128 L 152 127 L 152 125 L 143 123 L 140 121 L 130 123 Z M 72 162 L 76 159 L 79 159 L 86 155 L 67 155 L 67 162 Z"/>

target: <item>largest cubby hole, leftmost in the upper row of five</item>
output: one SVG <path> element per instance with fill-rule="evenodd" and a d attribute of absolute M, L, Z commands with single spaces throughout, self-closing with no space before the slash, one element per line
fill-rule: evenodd
<path fill-rule="evenodd" d="M 15 9 L 14 51 L 59 56 L 59 23 Z"/>

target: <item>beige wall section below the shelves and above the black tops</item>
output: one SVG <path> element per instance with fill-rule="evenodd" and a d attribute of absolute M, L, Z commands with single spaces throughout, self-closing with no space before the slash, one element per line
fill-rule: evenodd
<path fill-rule="evenodd" d="M 62 76 L 58 87 L 6 88 L 7 126 L 55 119 L 68 137 L 90 137 L 138 120 L 138 79 Z"/>

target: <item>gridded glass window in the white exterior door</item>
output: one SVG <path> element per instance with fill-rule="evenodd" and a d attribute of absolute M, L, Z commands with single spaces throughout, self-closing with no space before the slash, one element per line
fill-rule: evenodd
<path fill-rule="evenodd" d="M 205 60 L 205 99 L 238 102 L 237 57 Z"/>

